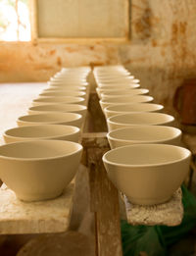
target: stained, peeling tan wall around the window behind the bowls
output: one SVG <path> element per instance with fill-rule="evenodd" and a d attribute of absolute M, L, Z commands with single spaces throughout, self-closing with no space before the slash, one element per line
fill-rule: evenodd
<path fill-rule="evenodd" d="M 0 44 L 0 81 L 47 80 L 61 67 L 122 62 L 172 113 L 175 88 L 196 77 L 196 2 L 132 0 L 123 45 Z"/>

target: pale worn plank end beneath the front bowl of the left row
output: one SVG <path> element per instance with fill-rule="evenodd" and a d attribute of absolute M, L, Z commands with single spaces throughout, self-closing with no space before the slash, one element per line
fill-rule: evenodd
<path fill-rule="evenodd" d="M 0 188 L 0 234 L 62 232 L 69 228 L 74 183 L 56 199 L 25 203 L 2 185 Z"/>

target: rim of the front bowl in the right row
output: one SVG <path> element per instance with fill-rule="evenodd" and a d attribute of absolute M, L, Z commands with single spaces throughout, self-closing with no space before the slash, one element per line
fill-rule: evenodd
<path fill-rule="evenodd" d="M 184 155 L 182 158 L 180 158 L 180 161 L 183 161 L 185 159 L 188 159 L 191 157 L 191 152 L 190 150 L 188 150 L 187 148 L 184 148 L 184 147 L 180 147 L 180 146 L 175 146 L 175 145 L 170 145 L 170 144 L 134 144 L 134 145 L 126 145 L 126 146 L 122 146 L 122 147 L 117 147 L 117 148 L 114 148 L 114 149 L 111 149 L 109 150 L 108 152 L 106 152 L 103 157 L 102 157 L 102 161 L 104 163 L 107 163 L 109 165 L 113 165 L 113 166 L 118 166 L 118 167 L 134 167 L 134 168 L 146 168 L 146 167 L 160 167 L 160 166 L 168 166 L 168 165 L 171 165 L 171 164 L 174 164 L 174 163 L 177 163 L 177 162 L 180 162 L 179 160 L 174 160 L 174 161 L 170 161 L 170 162 L 167 162 L 167 163 L 157 163 L 157 164 L 145 164 L 145 165 L 131 165 L 131 164 L 120 164 L 120 163 L 115 163 L 115 162 L 112 162 L 112 161 L 109 161 L 107 160 L 107 156 L 111 153 L 111 151 L 118 151 L 118 150 L 121 150 L 122 148 L 134 148 L 134 147 L 139 147 L 139 146 L 145 146 L 145 147 L 172 147 L 172 148 L 178 148 L 180 149 L 181 151 L 184 152 Z"/>

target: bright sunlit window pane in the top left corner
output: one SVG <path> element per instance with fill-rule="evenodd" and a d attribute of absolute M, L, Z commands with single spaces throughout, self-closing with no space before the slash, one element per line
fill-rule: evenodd
<path fill-rule="evenodd" d="M 28 0 L 0 0 L 0 40 L 30 40 Z"/>

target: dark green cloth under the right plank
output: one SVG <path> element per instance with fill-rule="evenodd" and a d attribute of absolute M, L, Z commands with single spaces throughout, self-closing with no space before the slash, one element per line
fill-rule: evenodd
<path fill-rule="evenodd" d="M 196 226 L 196 198 L 185 185 L 181 189 L 184 216 L 179 226 L 131 226 L 122 221 L 123 256 L 168 256 L 168 247 Z"/>

